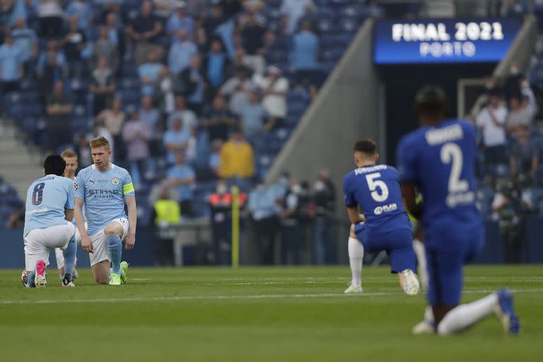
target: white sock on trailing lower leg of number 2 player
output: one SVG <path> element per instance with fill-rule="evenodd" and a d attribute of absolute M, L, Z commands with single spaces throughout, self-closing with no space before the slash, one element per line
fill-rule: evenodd
<path fill-rule="evenodd" d="M 498 294 L 496 293 L 472 303 L 458 305 L 443 317 L 438 325 L 438 334 L 445 336 L 471 327 L 493 313 L 496 305 L 498 305 Z"/>

